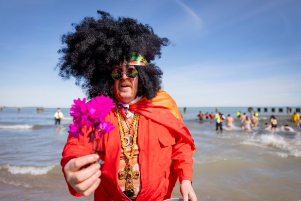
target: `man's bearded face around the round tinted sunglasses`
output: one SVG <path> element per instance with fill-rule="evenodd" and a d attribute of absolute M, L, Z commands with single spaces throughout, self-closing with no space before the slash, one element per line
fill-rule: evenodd
<path fill-rule="evenodd" d="M 127 71 L 127 69 L 134 66 L 120 66 L 114 69 Z M 128 78 L 125 73 L 122 74 L 120 80 L 114 80 L 114 95 L 117 101 L 129 103 L 136 98 L 138 92 L 138 75 L 134 78 Z"/>

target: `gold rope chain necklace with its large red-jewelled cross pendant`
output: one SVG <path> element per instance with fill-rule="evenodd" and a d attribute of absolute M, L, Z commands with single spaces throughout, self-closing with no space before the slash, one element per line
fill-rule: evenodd
<path fill-rule="evenodd" d="M 123 149 L 123 153 L 128 159 L 128 164 L 125 165 L 125 171 L 119 171 L 118 176 L 119 179 L 125 179 L 125 191 L 124 194 L 128 197 L 132 197 L 134 195 L 134 181 L 133 179 L 139 179 L 140 177 L 140 171 L 133 171 L 133 166 L 131 165 L 131 159 L 134 156 L 134 151 L 135 151 L 135 146 L 136 146 L 136 140 L 137 140 L 137 131 L 138 131 L 138 121 L 140 115 L 138 113 L 134 114 L 133 121 L 131 123 L 130 128 L 133 127 L 134 121 L 137 121 L 135 125 L 135 130 L 134 130 L 134 137 L 133 137 L 133 145 L 132 145 L 132 150 L 131 150 L 131 155 L 129 155 L 128 151 L 126 150 L 125 142 L 124 142 L 124 133 L 125 130 L 123 128 L 123 123 L 122 123 L 122 118 L 121 114 L 119 111 L 119 106 L 116 104 L 116 111 L 117 111 L 117 120 L 118 120 L 118 127 L 119 127 L 119 133 L 120 133 L 120 141 L 121 141 L 121 146 Z M 133 124 L 133 125 L 132 125 Z M 129 129 L 131 130 L 131 129 Z"/>

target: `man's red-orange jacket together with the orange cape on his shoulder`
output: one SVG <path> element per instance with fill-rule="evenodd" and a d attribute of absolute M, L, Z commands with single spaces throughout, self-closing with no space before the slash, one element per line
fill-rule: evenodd
<path fill-rule="evenodd" d="M 136 201 L 163 201 L 170 198 L 178 177 L 180 182 L 192 181 L 194 140 L 175 101 L 163 90 L 152 100 L 143 98 L 130 104 L 130 110 L 140 114 L 137 141 L 142 185 Z M 101 182 L 94 197 L 96 201 L 129 201 L 117 183 L 121 145 L 116 109 L 105 120 L 116 128 L 97 138 L 106 154 L 101 156 L 105 163 L 101 166 Z M 84 129 L 85 135 L 90 131 L 91 128 Z M 70 159 L 91 152 L 92 145 L 86 137 L 80 135 L 77 139 L 69 135 L 61 161 L 63 171 Z M 69 184 L 68 187 L 72 195 L 81 196 Z"/>

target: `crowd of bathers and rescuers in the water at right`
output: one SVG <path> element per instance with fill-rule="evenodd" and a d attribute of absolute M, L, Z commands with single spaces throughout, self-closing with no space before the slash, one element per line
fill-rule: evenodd
<path fill-rule="evenodd" d="M 251 112 L 251 117 L 248 117 L 246 113 L 243 113 L 241 115 L 241 112 L 237 112 L 236 114 L 237 118 L 240 120 L 240 128 L 242 130 L 250 131 L 252 128 L 256 128 L 258 126 L 259 120 L 258 120 L 258 113 L 257 112 Z M 214 119 L 216 120 L 216 130 L 222 131 L 222 122 L 223 120 L 226 120 L 226 127 L 228 128 L 235 128 L 234 126 L 234 118 L 229 114 L 226 118 L 222 113 L 218 112 L 214 114 L 213 112 L 209 114 L 208 112 L 203 115 L 200 111 L 199 120 L 203 120 L 203 118 L 206 119 Z M 294 114 L 291 116 L 291 121 L 296 123 L 296 126 L 301 129 L 301 119 L 300 115 L 297 112 L 294 112 Z M 278 121 L 277 118 L 274 115 L 271 115 L 269 118 L 269 123 L 265 123 L 266 130 L 270 131 L 286 131 L 286 132 L 294 132 L 294 129 L 289 126 L 288 124 L 282 125 L 280 128 L 277 127 Z M 237 128 L 237 127 L 236 127 Z"/>

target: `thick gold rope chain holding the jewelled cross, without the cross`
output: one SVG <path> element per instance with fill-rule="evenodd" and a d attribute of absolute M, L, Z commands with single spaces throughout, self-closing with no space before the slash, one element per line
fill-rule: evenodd
<path fill-rule="evenodd" d="M 125 146 L 125 143 L 124 143 L 124 140 L 123 140 L 124 134 L 127 133 L 128 131 L 124 131 L 122 118 L 121 118 L 121 114 L 120 114 L 120 111 L 119 111 L 119 105 L 118 104 L 116 104 L 116 111 L 117 111 L 117 120 L 118 120 L 118 125 L 119 125 L 118 127 L 119 127 L 119 133 L 120 133 L 121 146 L 123 148 L 123 153 L 125 154 L 125 156 L 129 160 L 129 164 L 130 164 L 131 159 L 134 156 L 134 151 L 135 151 L 135 146 L 136 146 L 136 139 L 137 139 L 137 135 L 138 135 L 138 133 L 137 133 L 137 131 L 138 131 L 138 121 L 139 121 L 140 115 L 138 113 L 135 113 L 133 121 L 132 121 L 131 126 L 129 128 L 129 130 L 131 130 L 131 128 L 134 125 L 134 121 L 137 121 L 137 123 L 135 125 L 135 130 L 134 130 L 132 151 L 131 151 L 131 155 L 129 156 L 129 153 L 126 150 L 126 146 Z"/>

